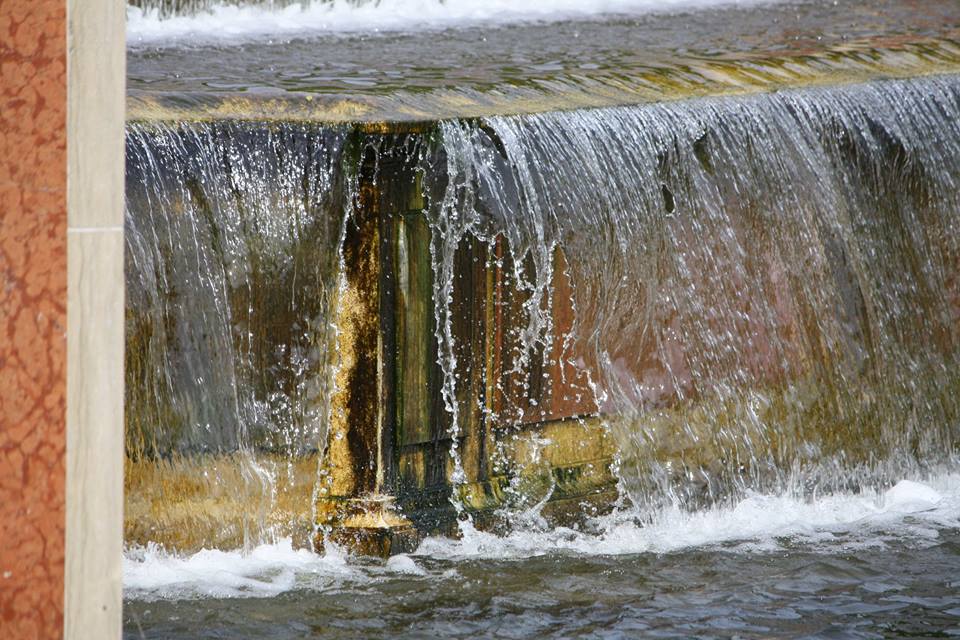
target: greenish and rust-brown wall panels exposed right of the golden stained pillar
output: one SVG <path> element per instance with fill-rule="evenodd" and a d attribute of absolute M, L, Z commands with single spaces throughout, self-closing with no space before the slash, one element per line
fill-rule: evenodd
<path fill-rule="evenodd" d="M 445 485 L 451 470 L 450 417 L 437 364 L 431 232 L 414 207 L 398 219 L 397 422 L 403 496 Z M 587 376 L 573 364 L 578 354 L 567 343 L 573 329 L 572 285 L 560 251 L 554 254 L 550 351 L 541 346 L 529 354 L 524 370 L 516 370 L 522 350 L 516 329 L 526 324 L 523 305 L 528 294 L 514 281 L 511 260 L 502 237 L 493 243 L 468 237 L 456 255 L 451 330 L 458 362 L 461 461 L 470 482 L 496 475 L 494 448 L 518 429 L 597 413 Z"/>

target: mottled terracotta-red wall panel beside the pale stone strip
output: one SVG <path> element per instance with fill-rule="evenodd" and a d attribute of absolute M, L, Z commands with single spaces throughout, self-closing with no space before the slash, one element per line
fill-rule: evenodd
<path fill-rule="evenodd" d="M 0 0 L 0 637 L 63 627 L 66 3 Z"/>

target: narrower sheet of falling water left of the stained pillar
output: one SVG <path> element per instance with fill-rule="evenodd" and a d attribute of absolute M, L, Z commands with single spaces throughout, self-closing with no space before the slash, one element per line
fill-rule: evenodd
<path fill-rule="evenodd" d="M 278 476 L 309 474 L 297 509 L 310 510 L 316 465 L 294 458 L 316 456 L 327 422 L 343 138 L 309 125 L 128 127 L 128 485 L 136 462 L 175 460 L 171 487 L 186 476 L 184 493 L 209 483 L 248 500 L 246 544 L 266 535 Z"/>

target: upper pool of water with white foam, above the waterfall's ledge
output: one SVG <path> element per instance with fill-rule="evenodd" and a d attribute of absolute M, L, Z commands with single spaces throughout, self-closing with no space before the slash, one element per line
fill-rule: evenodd
<path fill-rule="evenodd" d="M 529 103 L 558 93 L 586 94 L 579 102 L 599 105 L 636 102 L 637 92 L 650 99 L 677 84 L 715 85 L 722 80 L 706 67 L 725 62 L 802 73 L 810 71 L 804 56 L 844 48 L 863 51 L 859 62 L 877 62 L 874 45 L 960 33 L 960 3 L 939 0 L 715 4 L 551 21 L 471 20 L 467 12 L 421 24 L 408 15 L 383 28 L 375 12 L 344 25 L 318 8 L 290 7 L 283 20 L 250 7 L 173 20 L 135 13 L 127 86 L 135 100 L 178 105 L 238 98 L 363 105 L 340 113 L 346 119 L 449 117 L 465 113 L 465 103 L 488 101 L 475 114 L 484 115 L 529 111 Z M 771 67 L 769 56 L 789 56 L 793 67 Z M 343 110 L 328 107 L 325 117 Z"/>

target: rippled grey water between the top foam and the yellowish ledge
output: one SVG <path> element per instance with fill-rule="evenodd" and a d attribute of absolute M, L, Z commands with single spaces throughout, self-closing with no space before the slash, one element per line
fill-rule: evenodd
<path fill-rule="evenodd" d="M 409 32 L 134 37 L 127 84 L 132 94 L 483 91 L 576 84 L 746 52 L 820 51 L 878 36 L 939 37 L 958 25 L 953 0 L 812 0 Z"/>

